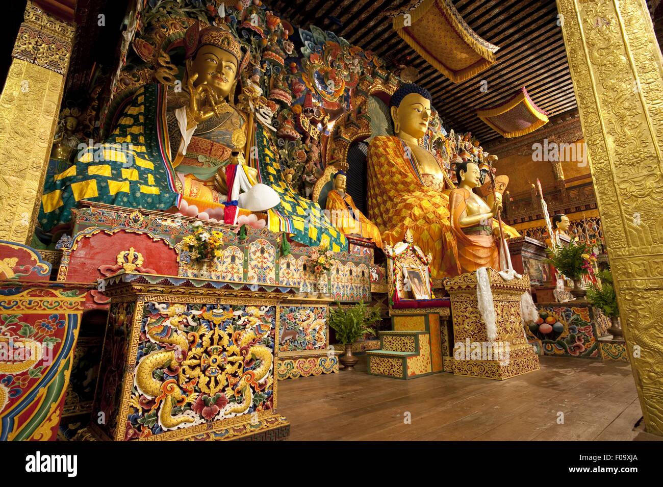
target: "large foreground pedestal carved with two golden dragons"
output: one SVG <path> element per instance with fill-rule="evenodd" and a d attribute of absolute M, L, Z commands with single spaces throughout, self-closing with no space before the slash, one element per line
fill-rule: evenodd
<path fill-rule="evenodd" d="M 121 272 L 90 431 L 97 439 L 285 439 L 278 303 L 292 288 Z"/>

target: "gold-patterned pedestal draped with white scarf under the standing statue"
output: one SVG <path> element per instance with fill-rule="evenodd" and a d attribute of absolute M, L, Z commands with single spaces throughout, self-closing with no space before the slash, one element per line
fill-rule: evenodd
<path fill-rule="evenodd" d="M 503 380 L 538 370 L 538 356 L 520 323 L 520 295 L 530 289 L 529 276 L 505 281 L 493 269 L 488 276 L 495 305 L 492 341 L 479 313 L 476 272 L 446 281 L 452 301 L 453 374 Z"/>

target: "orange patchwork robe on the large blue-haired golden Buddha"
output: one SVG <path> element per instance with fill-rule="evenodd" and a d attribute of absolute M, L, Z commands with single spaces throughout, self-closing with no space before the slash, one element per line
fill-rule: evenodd
<path fill-rule="evenodd" d="M 383 242 L 394 245 L 410 229 L 414 243 L 432 255 L 432 278 L 456 276 L 449 198 L 425 186 L 400 138 L 371 140 L 368 180 L 369 218 L 381 230 Z"/>

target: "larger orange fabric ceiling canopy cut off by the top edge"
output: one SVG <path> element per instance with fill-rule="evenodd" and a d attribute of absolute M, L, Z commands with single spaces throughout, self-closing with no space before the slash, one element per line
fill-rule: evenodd
<path fill-rule="evenodd" d="M 388 13 L 392 27 L 431 66 L 454 83 L 495 63 L 499 49 L 474 32 L 451 0 L 421 0 Z"/>

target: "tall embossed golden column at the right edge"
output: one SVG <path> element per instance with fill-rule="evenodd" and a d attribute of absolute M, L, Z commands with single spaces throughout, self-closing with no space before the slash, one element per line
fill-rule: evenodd
<path fill-rule="evenodd" d="M 663 435 L 663 60 L 644 0 L 557 0 L 646 430 Z"/>

